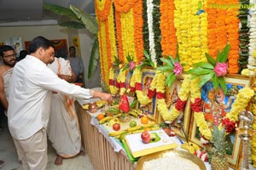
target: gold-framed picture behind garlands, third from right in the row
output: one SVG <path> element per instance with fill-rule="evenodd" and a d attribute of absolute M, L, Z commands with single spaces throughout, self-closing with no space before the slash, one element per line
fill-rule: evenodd
<path fill-rule="evenodd" d="M 150 88 L 150 84 L 154 79 L 155 71 L 151 69 L 143 69 L 143 76 L 142 76 L 142 88 L 143 88 L 143 95 L 148 95 L 148 89 Z M 152 102 L 148 105 L 141 105 L 138 103 L 138 109 L 141 109 L 144 114 L 153 120 L 156 119 L 156 95 L 154 95 Z"/>

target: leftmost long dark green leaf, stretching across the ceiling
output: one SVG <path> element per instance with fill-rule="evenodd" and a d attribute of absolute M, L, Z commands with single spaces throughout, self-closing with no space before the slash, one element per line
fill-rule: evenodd
<path fill-rule="evenodd" d="M 61 7 L 59 5 L 51 4 L 51 3 L 44 3 L 44 9 L 48 9 L 49 11 L 59 14 L 61 16 L 67 16 L 71 20 L 76 20 L 81 22 L 77 15 L 73 13 L 70 8 Z"/>

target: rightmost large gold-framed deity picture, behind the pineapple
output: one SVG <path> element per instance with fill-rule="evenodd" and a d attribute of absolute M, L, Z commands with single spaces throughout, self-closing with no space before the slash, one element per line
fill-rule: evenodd
<path fill-rule="evenodd" d="M 227 94 L 224 94 L 222 88 L 214 89 L 212 82 L 207 82 L 201 88 L 203 113 L 209 128 L 212 128 L 213 125 L 218 126 L 218 124 L 221 123 L 224 116 L 232 108 L 232 104 L 236 100 L 239 89 L 250 86 L 249 77 L 227 76 L 225 77 L 225 82 L 228 89 Z M 191 116 L 191 122 L 189 140 L 203 147 L 201 144 L 201 133 L 195 123 L 194 116 Z M 237 127 L 242 126 L 243 122 L 238 122 Z M 238 133 L 236 133 L 235 129 L 228 135 L 228 143 L 229 150 L 227 150 L 227 158 L 230 167 L 236 169 L 241 154 L 241 139 L 238 137 Z"/>

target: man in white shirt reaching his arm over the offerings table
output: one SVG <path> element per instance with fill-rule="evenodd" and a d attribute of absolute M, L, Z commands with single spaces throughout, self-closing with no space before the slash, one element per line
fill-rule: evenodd
<path fill-rule="evenodd" d="M 15 65 L 9 88 L 9 131 L 20 147 L 23 169 L 44 170 L 47 165 L 46 127 L 52 91 L 81 99 L 101 98 L 104 94 L 70 84 L 57 77 L 47 64 L 55 57 L 48 39 L 35 37 L 29 55 Z"/>

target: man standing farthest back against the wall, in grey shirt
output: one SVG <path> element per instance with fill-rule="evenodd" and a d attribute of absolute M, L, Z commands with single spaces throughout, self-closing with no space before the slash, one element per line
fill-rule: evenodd
<path fill-rule="evenodd" d="M 82 58 L 76 55 L 75 47 L 71 46 L 69 48 L 69 56 L 67 59 L 70 61 L 71 68 L 77 77 L 76 82 L 84 83 L 84 64 Z"/>

